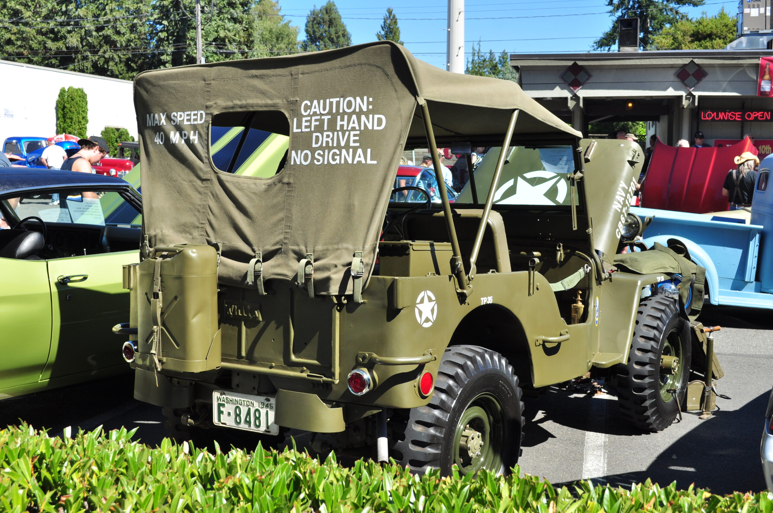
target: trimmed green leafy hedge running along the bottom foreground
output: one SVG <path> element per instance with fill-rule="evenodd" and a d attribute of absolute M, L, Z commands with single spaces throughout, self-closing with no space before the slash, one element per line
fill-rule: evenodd
<path fill-rule="evenodd" d="M 768 492 L 721 497 L 649 481 L 631 490 L 577 484 L 555 489 L 530 475 L 424 477 L 396 465 L 345 468 L 295 450 L 278 453 L 132 441 L 135 430 L 97 428 L 73 439 L 31 427 L 0 430 L 0 511 L 533 511 L 534 513 L 771 513 Z"/>

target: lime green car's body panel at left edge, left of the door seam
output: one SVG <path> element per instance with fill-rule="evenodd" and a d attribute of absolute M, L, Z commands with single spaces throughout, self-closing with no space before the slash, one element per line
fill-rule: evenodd
<path fill-rule="evenodd" d="M 0 258 L 0 399 L 37 382 L 51 348 L 46 262 Z"/>

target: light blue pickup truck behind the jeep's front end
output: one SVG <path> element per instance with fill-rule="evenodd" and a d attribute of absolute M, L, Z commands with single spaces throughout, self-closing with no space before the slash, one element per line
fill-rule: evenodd
<path fill-rule="evenodd" d="M 644 233 L 647 246 L 676 239 L 693 261 L 706 268 L 708 301 L 741 307 L 773 308 L 773 187 L 768 190 L 773 155 L 759 167 L 749 209 L 713 214 L 631 207 L 654 216 Z"/>

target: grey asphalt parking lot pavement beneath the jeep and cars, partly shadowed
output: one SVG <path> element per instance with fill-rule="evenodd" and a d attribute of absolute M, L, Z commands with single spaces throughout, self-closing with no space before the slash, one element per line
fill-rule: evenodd
<path fill-rule="evenodd" d="M 661 433 L 641 433 L 618 413 L 611 394 L 586 396 L 550 387 L 526 400 L 526 435 L 519 464 L 524 472 L 553 484 L 593 479 L 629 488 L 652 479 L 679 488 L 694 483 L 715 493 L 764 490 L 759 445 L 764 409 L 773 385 L 773 315 L 748 308 L 710 308 L 700 319 L 721 325 L 715 351 L 725 376 L 710 420 L 684 413 Z M 107 430 L 126 426 L 136 437 L 158 444 L 165 436 L 160 409 L 132 398 L 132 376 L 38 392 L 0 404 L 0 426 L 20 421 L 48 428 Z"/>

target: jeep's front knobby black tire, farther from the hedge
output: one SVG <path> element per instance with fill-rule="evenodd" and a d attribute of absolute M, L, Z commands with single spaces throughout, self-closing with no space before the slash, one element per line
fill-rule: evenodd
<path fill-rule="evenodd" d="M 679 317 L 676 298 L 648 297 L 638 305 L 627 365 L 618 365 L 618 406 L 622 416 L 645 431 L 670 426 L 684 403 L 690 378 L 690 323 Z M 676 372 L 662 366 L 676 356 Z M 676 400 L 669 389 L 676 389 Z"/>

